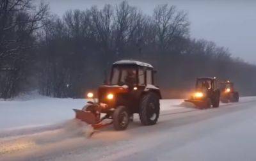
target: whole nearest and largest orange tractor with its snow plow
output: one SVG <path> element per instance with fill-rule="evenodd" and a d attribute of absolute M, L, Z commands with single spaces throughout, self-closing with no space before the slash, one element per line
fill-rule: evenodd
<path fill-rule="evenodd" d="M 161 93 L 154 85 L 154 69 L 140 61 L 117 61 L 113 63 L 109 82 L 99 86 L 98 100 L 88 102 L 82 110 L 74 109 L 76 118 L 92 125 L 104 127 L 104 119 L 111 119 L 115 130 L 125 130 L 138 113 L 143 125 L 154 125 L 159 118 Z M 94 98 L 93 93 L 88 93 Z M 100 114 L 105 116 L 100 117 Z"/>

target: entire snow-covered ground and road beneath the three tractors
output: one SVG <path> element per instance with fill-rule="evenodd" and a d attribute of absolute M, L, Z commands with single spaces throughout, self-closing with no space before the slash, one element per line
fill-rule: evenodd
<path fill-rule="evenodd" d="M 88 138 L 72 109 L 83 99 L 0 101 L 0 160 L 255 160 L 256 97 L 197 110 L 161 100 L 157 125 L 138 117 L 127 130 L 111 126 Z"/>

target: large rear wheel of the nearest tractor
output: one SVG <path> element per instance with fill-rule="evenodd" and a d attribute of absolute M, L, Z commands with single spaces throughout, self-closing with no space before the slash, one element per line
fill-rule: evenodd
<path fill-rule="evenodd" d="M 159 118 L 159 96 L 147 93 L 141 97 L 139 107 L 140 121 L 143 125 L 155 125 Z"/>

